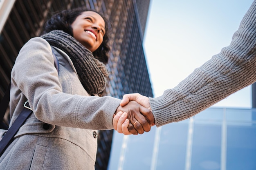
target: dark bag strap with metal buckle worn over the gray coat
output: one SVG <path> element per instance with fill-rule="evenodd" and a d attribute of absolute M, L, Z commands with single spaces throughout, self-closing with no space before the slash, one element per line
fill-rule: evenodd
<path fill-rule="evenodd" d="M 52 49 L 52 54 L 54 56 L 54 66 L 56 67 L 57 71 L 59 72 L 58 58 L 56 57 L 55 53 L 53 52 L 53 49 Z M 9 84 L 7 91 L 4 94 L 4 97 L 0 104 L 0 106 L 1 106 L 1 110 L 0 110 L 1 111 L 1 113 L 0 113 L 1 120 L 0 121 L 3 120 L 5 111 L 10 102 L 10 87 L 11 87 L 10 84 Z M 4 108 L 5 108 L 5 110 L 4 110 Z M 10 128 L 7 130 L 7 132 L 4 133 L 2 140 L 0 141 L 0 157 L 2 156 L 4 150 L 9 146 L 9 144 L 11 144 L 13 137 L 18 132 L 18 130 L 20 129 L 22 124 L 24 124 L 26 119 L 31 115 L 31 113 L 33 113 L 33 111 L 30 108 L 28 101 L 27 101 L 27 102 L 25 102 L 24 108 L 22 109 L 22 111 L 20 112 L 20 114 L 18 115 L 16 120 L 13 122 L 13 124 L 10 126 Z"/>

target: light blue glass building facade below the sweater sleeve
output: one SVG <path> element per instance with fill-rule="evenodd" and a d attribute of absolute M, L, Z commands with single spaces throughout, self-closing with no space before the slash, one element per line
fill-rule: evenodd
<path fill-rule="evenodd" d="M 256 170 L 256 109 L 208 108 L 143 135 L 114 132 L 108 170 Z"/>

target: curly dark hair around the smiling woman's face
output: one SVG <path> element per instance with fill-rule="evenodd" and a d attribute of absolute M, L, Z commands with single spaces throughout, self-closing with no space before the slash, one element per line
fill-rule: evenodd
<path fill-rule="evenodd" d="M 49 20 L 47 20 L 43 26 L 43 32 L 41 35 L 45 33 L 49 33 L 53 30 L 62 30 L 65 33 L 70 34 L 73 36 L 73 29 L 71 24 L 76 20 L 77 16 L 81 15 L 84 11 L 93 11 L 101 15 L 103 20 L 105 21 L 105 35 L 103 37 L 103 42 L 99 46 L 97 50 L 95 50 L 92 54 L 95 58 L 103 62 L 104 64 L 108 63 L 109 59 L 109 51 L 110 46 L 108 44 L 109 37 L 110 37 L 110 29 L 111 24 L 109 20 L 102 15 L 101 13 L 93 10 L 93 9 L 86 9 L 85 7 L 79 7 L 75 9 L 67 9 L 60 12 L 55 13 Z"/>

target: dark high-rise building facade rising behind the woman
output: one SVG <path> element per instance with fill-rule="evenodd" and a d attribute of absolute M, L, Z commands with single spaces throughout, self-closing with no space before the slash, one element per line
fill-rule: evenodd
<path fill-rule="evenodd" d="M 40 34 L 45 20 L 55 11 L 81 6 L 103 13 L 112 23 L 106 95 L 121 98 L 126 93 L 141 93 L 153 97 L 142 46 L 149 4 L 150 0 L 0 0 L 0 99 L 23 44 Z M 112 133 L 99 132 L 96 170 L 108 166 Z"/>

